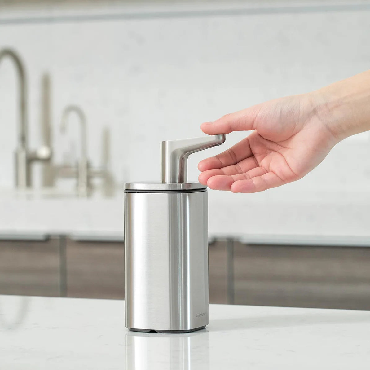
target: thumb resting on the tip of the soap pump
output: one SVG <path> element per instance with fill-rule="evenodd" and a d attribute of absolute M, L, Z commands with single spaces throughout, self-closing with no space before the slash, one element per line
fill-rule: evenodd
<path fill-rule="evenodd" d="M 229 113 L 214 122 L 204 122 L 201 130 L 208 135 L 229 134 L 233 131 L 252 131 L 256 129 L 257 106 Z"/>

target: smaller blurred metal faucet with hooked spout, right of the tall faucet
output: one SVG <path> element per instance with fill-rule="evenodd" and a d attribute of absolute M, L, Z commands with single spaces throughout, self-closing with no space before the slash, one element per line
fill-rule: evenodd
<path fill-rule="evenodd" d="M 87 129 L 86 118 L 84 112 L 77 105 L 68 105 L 62 114 L 60 131 L 65 132 L 67 128 L 67 118 L 70 113 L 74 112 L 78 115 L 81 125 L 81 158 L 77 164 L 77 192 L 79 196 L 88 195 L 88 161 L 87 161 Z"/>

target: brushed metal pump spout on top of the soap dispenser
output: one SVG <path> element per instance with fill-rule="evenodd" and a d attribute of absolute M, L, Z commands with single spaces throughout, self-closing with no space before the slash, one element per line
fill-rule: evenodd
<path fill-rule="evenodd" d="M 168 140 L 161 142 L 161 182 L 178 184 L 188 181 L 187 161 L 190 154 L 221 145 L 225 135 Z"/>

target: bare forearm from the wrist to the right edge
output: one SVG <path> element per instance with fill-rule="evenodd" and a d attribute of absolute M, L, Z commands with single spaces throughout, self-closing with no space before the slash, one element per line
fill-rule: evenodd
<path fill-rule="evenodd" d="M 370 130 L 370 70 L 310 94 L 317 117 L 338 141 Z"/>

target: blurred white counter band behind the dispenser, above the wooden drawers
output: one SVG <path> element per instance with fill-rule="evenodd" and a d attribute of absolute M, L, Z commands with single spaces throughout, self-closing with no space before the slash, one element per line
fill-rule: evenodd
<path fill-rule="evenodd" d="M 336 236 L 370 240 L 370 194 L 366 191 L 294 192 L 288 185 L 287 189 L 271 189 L 260 194 L 209 191 L 209 235 L 267 235 L 267 238 L 292 235 L 293 239 Z M 3 235 L 64 234 L 77 239 L 119 240 L 123 239 L 123 226 L 122 194 L 107 199 L 24 194 L 0 197 L 0 234 Z"/>

